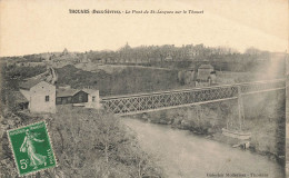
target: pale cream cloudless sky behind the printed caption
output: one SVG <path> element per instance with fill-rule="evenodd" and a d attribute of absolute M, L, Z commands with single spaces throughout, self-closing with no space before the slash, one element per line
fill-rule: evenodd
<path fill-rule="evenodd" d="M 203 10 L 92 14 L 89 10 Z M 0 0 L 0 56 L 161 44 L 288 50 L 288 0 Z"/>

